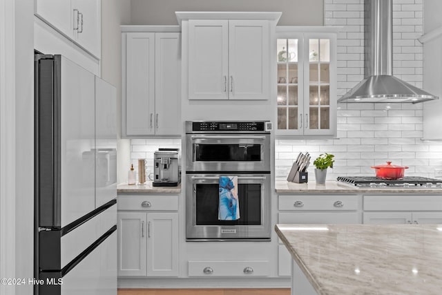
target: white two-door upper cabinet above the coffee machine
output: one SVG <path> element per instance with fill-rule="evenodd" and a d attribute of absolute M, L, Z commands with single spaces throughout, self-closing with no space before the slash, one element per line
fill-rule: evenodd
<path fill-rule="evenodd" d="M 179 135 L 180 32 L 123 32 L 123 136 Z"/>

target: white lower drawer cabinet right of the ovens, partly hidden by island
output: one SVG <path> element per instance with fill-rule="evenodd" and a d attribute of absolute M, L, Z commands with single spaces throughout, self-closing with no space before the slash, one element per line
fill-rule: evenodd
<path fill-rule="evenodd" d="M 361 196 L 280 195 L 278 223 L 360 224 Z M 291 276 L 291 255 L 279 240 L 278 276 Z M 300 293 L 303 294 L 303 293 Z"/>

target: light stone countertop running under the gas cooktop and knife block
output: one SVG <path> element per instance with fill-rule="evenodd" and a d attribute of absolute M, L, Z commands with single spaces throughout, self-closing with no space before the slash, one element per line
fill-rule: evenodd
<path fill-rule="evenodd" d="M 276 193 L 440 193 L 440 188 L 358 188 L 336 180 L 327 180 L 325 184 L 317 184 L 314 181 L 307 183 L 294 183 L 287 180 L 275 181 Z"/>

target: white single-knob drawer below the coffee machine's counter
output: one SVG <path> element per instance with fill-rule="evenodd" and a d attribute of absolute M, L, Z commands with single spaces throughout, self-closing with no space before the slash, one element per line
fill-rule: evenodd
<path fill-rule="evenodd" d="M 118 196 L 118 210 L 178 210 L 178 196 Z"/>

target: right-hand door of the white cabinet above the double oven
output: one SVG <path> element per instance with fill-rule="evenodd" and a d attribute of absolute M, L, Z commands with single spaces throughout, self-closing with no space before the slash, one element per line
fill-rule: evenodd
<path fill-rule="evenodd" d="M 269 99 L 269 22 L 229 20 L 229 99 Z"/>

